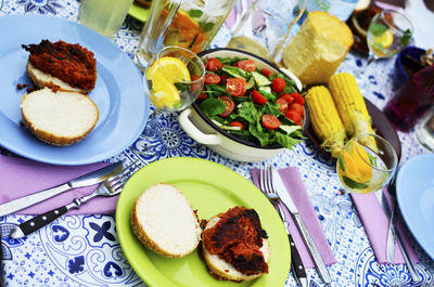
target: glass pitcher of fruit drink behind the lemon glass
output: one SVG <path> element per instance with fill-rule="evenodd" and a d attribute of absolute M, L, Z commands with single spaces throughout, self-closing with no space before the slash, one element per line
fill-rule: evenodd
<path fill-rule="evenodd" d="M 205 50 L 237 0 L 153 0 L 136 53 L 142 67 L 163 47 Z"/>

